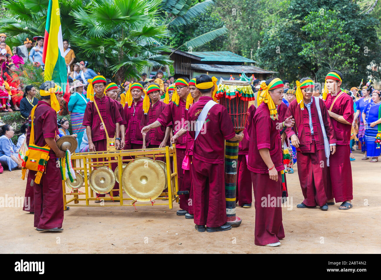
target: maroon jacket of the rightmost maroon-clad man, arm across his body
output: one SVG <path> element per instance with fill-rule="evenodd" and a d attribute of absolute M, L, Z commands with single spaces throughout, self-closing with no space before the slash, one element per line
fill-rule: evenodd
<path fill-rule="evenodd" d="M 340 92 L 338 93 L 340 94 Z M 337 96 L 337 95 L 336 95 Z M 325 106 L 329 110 L 336 96 L 331 96 L 328 93 L 327 100 L 325 101 Z M 334 118 L 331 118 L 333 123 L 333 129 L 335 130 L 337 145 L 348 145 L 351 141 L 351 130 L 353 122 L 353 100 L 351 96 L 346 93 L 341 94 L 333 104 L 332 112 L 344 117 L 344 120 L 351 123 L 350 125 L 338 122 Z"/>

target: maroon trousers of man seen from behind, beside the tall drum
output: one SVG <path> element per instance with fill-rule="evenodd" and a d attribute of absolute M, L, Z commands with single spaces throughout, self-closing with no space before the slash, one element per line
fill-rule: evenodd
<path fill-rule="evenodd" d="M 192 159 L 194 223 L 220 227 L 227 221 L 224 164 Z"/>

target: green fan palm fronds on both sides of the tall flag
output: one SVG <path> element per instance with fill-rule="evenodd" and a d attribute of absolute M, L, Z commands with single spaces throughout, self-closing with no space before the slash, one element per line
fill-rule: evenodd
<path fill-rule="evenodd" d="M 163 51 L 170 33 L 156 21 L 161 0 L 60 0 L 62 35 L 77 60 L 87 60 L 96 72 L 122 82 L 138 77 L 144 66 L 170 63 Z M 48 0 L 4 0 L 0 31 L 7 43 L 43 35 Z M 13 37 L 13 38 L 12 38 Z M 115 74 L 115 76 L 113 76 Z"/>

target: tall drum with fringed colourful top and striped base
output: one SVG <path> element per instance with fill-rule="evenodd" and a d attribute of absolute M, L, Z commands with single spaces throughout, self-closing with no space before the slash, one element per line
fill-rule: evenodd
<path fill-rule="evenodd" d="M 223 81 L 218 85 L 216 93 L 219 104 L 226 107 L 235 132 L 239 133 L 245 129 L 247 122 L 247 110 L 249 101 L 255 100 L 253 90 L 245 81 Z M 238 141 L 225 142 L 225 196 L 227 224 L 238 227 L 242 220 L 235 214 L 235 194 L 237 189 L 237 161 Z"/>

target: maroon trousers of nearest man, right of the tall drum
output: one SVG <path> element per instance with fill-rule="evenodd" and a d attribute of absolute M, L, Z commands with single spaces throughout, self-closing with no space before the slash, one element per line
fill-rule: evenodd
<path fill-rule="evenodd" d="M 254 244 L 263 246 L 279 242 L 285 237 L 282 224 L 282 174 L 278 172 L 278 182 L 269 174 L 251 172 L 255 198 Z M 272 203 L 275 200 L 275 203 Z"/>

